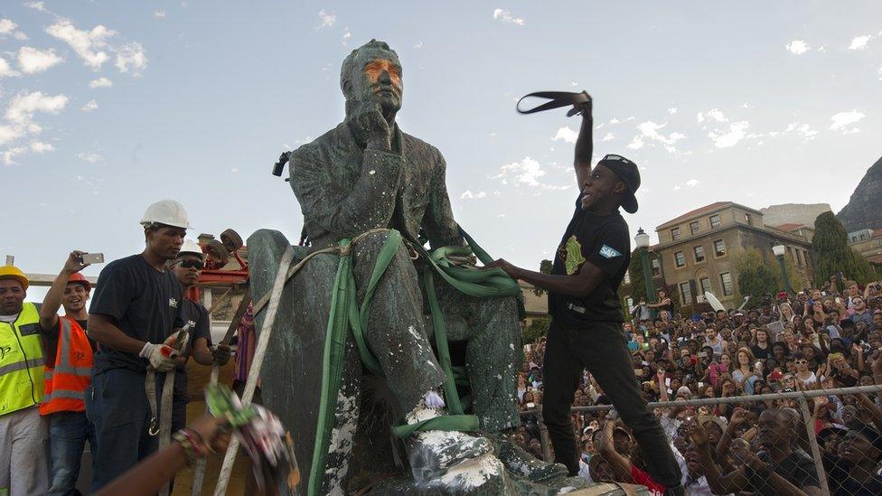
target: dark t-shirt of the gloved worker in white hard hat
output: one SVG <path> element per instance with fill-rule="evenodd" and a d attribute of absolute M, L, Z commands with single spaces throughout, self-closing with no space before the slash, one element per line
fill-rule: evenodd
<path fill-rule="evenodd" d="M 157 271 L 144 257 L 132 255 L 110 262 L 101 271 L 89 314 L 107 315 L 127 336 L 161 343 L 181 327 L 183 288 L 171 270 Z M 93 374 L 127 368 L 146 372 L 150 362 L 137 354 L 99 345 Z"/>

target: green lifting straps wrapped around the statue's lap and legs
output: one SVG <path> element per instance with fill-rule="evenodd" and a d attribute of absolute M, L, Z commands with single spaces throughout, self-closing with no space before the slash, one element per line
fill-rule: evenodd
<path fill-rule="evenodd" d="M 432 312 L 432 321 L 438 349 L 438 361 L 445 373 L 444 390 L 447 399 L 447 408 L 453 415 L 438 416 L 418 422 L 416 424 L 403 424 L 393 426 L 392 433 L 399 437 L 407 437 L 419 430 L 446 430 L 446 431 L 474 431 L 478 429 L 478 418 L 474 415 L 464 415 L 463 403 L 471 404 L 471 398 L 459 398 L 456 391 L 456 381 L 461 384 L 467 383 L 468 377 L 462 368 L 454 368 L 450 363 L 450 351 L 447 348 L 447 335 L 444 323 L 444 315 L 441 313 L 435 291 L 434 269 L 447 283 L 466 295 L 474 297 L 510 296 L 521 297 L 521 286 L 511 279 L 499 268 L 475 269 L 458 267 L 452 264 L 448 255 L 471 255 L 474 253 L 483 264 L 493 262 L 487 252 L 474 242 L 465 231 L 460 228 L 468 247 L 445 247 L 434 250 L 431 254 L 418 244 L 413 248 L 422 255 L 429 266 L 423 272 L 426 285 L 429 308 Z M 352 338 L 358 347 L 359 356 L 364 366 L 371 373 L 383 376 L 380 362 L 368 350 L 363 330 L 367 329 L 370 314 L 371 301 L 376 291 L 380 278 L 395 257 L 395 253 L 401 244 L 401 234 L 396 229 L 389 229 L 389 235 L 377 257 L 371 272 L 371 279 L 365 291 L 361 305 L 357 301 L 357 289 L 355 276 L 352 274 L 352 242 L 350 239 L 340 241 L 340 263 L 337 266 L 337 275 L 334 279 L 331 294 L 331 313 L 328 318 L 327 332 L 324 339 L 324 353 L 322 357 L 322 391 L 319 401 L 318 424 L 315 429 L 315 443 L 313 451 L 313 463 L 309 471 L 307 493 L 317 496 L 322 490 L 324 482 L 324 470 L 327 463 L 328 447 L 331 444 L 333 430 L 334 407 L 342 381 L 342 362 L 346 346 L 347 327 L 352 331 Z M 361 306 L 361 307 L 360 307 Z M 521 314 L 523 305 L 521 304 Z"/>

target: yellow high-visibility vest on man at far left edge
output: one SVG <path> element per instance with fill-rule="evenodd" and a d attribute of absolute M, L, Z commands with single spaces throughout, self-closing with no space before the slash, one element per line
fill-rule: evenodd
<path fill-rule="evenodd" d="M 0 416 L 40 405 L 44 362 L 40 313 L 25 302 L 14 323 L 0 322 Z"/>

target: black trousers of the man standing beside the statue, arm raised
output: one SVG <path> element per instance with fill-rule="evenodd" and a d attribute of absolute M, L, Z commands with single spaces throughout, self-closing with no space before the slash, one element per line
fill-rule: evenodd
<path fill-rule="evenodd" d="M 591 372 L 624 423 L 631 427 L 652 479 L 665 487 L 679 486 L 680 466 L 662 426 L 640 394 L 620 323 L 592 323 L 585 329 L 564 329 L 551 323 L 545 344 L 542 416 L 554 446 L 555 462 L 567 465 L 571 474 L 578 472 L 579 452 L 570 407 L 583 369 Z"/>

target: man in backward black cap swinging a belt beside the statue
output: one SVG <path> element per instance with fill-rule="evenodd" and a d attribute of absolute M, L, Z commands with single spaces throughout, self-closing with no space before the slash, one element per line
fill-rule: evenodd
<path fill-rule="evenodd" d="M 636 164 L 616 154 L 607 154 L 591 167 L 591 104 L 589 99 L 577 105 L 582 113 L 575 160 L 579 195 L 551 274 L 514 267 L 502 259 L 493 267 L 549 291 L 552 322 L 545 350 L 542 416 L 555 462 L 567 465 L 572 475 L 578 472 L 569 410 L 586 368 L 631 427 L 652 479 L 668 488 L 666 493 L 683 494 L 680 467 L 634 377 L 616 294 L 631 258 L 631 235 L 618 209 L 637 211 L 634 192 L 640 187 L 640 172 Z"/>

